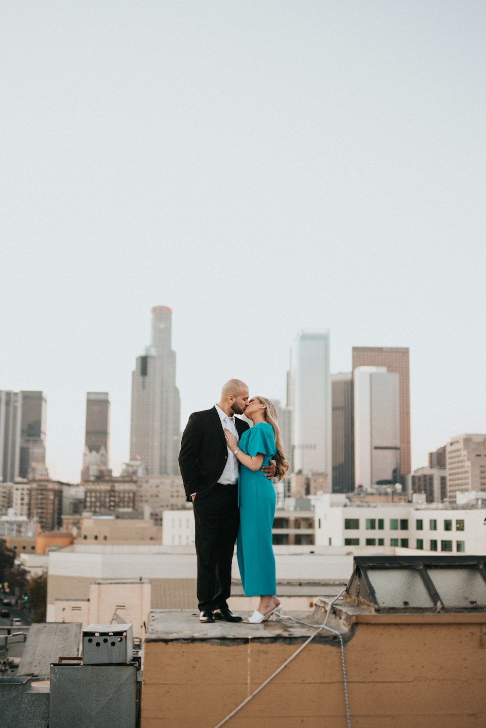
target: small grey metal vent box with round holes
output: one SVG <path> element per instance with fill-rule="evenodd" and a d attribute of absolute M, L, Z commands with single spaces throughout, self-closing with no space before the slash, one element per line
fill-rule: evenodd
<path fill-rule="evenodd" d="M 89 625 L 82 630 L 85 665 L 128 665 L 133 657 L 132 625 Z"/>

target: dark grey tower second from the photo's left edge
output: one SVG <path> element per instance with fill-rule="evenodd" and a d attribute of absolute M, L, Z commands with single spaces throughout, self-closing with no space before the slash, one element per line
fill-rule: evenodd
<path fill-rule="evenodd" d="M 20 478 L 46 479 L 46 410 L 43 392 L 22 391 Z"/>

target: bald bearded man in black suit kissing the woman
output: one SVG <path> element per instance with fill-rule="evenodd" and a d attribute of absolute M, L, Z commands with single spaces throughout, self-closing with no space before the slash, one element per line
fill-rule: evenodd
<path fill-rule="evenodd" d="M 192 500 L 196 526 L 197 601 L 201 622 L 240 622 L 230 612 L 231 565 L 240 525 L 238 459 L 228 448 L 224 428 L 237 440 L 248 424 L 243 414 L 248 387 L 240 379 L 224 384 L 219 403 L 193 412 L 182 435 L 179 467 L 187 500 Z M 275 465 L 263 468 L 268 478 Z"/>

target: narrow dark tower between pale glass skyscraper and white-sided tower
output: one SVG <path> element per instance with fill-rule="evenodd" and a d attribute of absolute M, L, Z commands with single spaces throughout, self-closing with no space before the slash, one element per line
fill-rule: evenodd
<path fill-rule="evenodd" d="M 353 374 L 332 374 L 332 492 L 354 490 Z"/>

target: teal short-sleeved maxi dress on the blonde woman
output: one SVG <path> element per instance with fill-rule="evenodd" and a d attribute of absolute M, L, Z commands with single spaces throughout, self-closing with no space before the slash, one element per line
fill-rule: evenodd
<path fill-rule="evenodd" d="M 243 432 L 238 447 L 252 457 L 262 453 L 262 465 L 275 456 L 275 438 L 268 422 L 254 424 Z M 275 516 L 275 488 L 260 470 L 240 466 L 238 479 L 240 530 L 237 555 L 245 596 L 275 594 L 275 556 L 272 526 Z"/>

